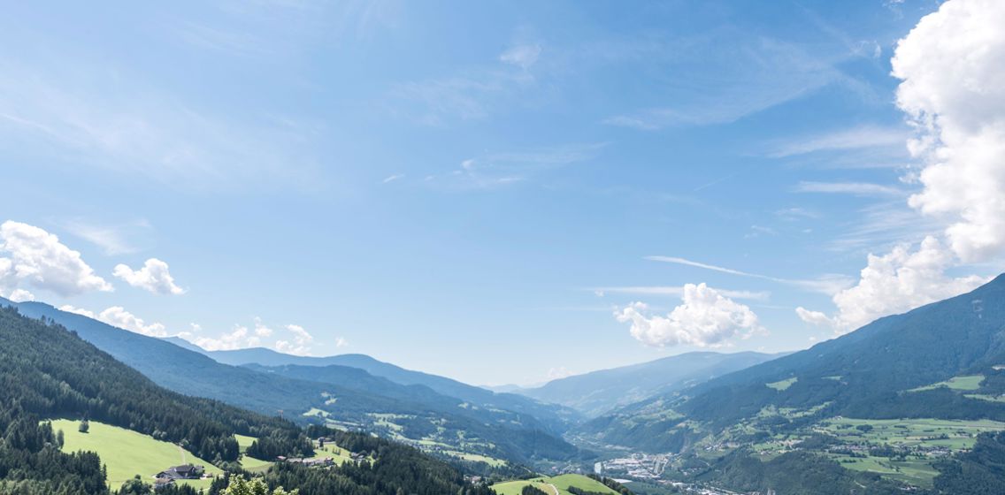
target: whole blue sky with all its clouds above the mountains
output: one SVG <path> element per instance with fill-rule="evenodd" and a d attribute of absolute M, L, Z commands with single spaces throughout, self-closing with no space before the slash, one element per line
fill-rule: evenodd
<path fill-rule="evenodd" d="M 1003 270 L 992 0 L 20 2 L 0 295 L 478 385 Z"/>

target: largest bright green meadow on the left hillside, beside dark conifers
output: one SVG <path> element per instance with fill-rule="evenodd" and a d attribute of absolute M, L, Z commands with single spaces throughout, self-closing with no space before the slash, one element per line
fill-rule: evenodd
<path fill-rule="evenodd" d="M 62 430 L 64 452 L 96 452 L 109 467 L 109 486 L 114 490 L 136 475 L 153 482 L 155 474 L 180 464 L 202 465 L 210 475 L 222 473 L 220 468 L 177 445 L 124 428 L 94 421 L 89 423 L 88 433 L 80 433 L 77 430 L 80 422 L 75 420 L 54 420 L 52 430 Z M 186 480 L 182 483 L 194 488 L 209 488 L 210 480 Z"/>

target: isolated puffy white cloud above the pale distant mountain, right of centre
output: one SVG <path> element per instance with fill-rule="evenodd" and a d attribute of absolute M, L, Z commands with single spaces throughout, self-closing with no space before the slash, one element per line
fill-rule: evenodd
<path fill-rule="evenodd" d="M 762 330 L 749 307 L 737 303 L 701 283 L 684 285 L 683 303 L 666 316 L 646 315 L 644 303 L 635 302 L 614 316 L 631 322 L 631 335 L 657 347 L 667 345 L 719 346 L 735 335 Z"/>

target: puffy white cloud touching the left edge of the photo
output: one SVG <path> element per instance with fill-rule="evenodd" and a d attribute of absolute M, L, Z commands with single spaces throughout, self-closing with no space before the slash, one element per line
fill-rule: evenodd
<path fill-rule="evenodd" d="M 111 291 L 112 284 L 94 274 L 73 251 L 53 234 L 14 221 L 0 225 L 0 286 L 28 283 L 56 294 L 68 296 L 91 290 Z"/>

